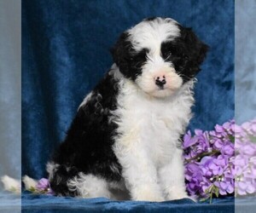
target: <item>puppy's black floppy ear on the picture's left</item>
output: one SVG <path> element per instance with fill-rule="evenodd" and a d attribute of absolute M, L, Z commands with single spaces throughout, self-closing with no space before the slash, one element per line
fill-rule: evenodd
<path fill-rule="evenodd" d="M 119 66 L 119 71 L 122 72 L 126 77 L 129 76 L 129 60 L 131 59 L 132 45 L 129 41 L 129 33 L 123 32 L 114 44 L 113 48 L 110 49 L 113 56 L 113 61 Z"/>

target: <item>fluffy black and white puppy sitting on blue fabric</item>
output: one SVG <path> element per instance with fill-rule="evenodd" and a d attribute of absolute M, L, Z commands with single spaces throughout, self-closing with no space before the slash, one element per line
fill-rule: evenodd
<path fill-rule="evenodd" d="M 47 165 L 57 195 L 162 201 L 188 197 L 180 138 L 191 118 L 195 74 L 207 53 L 169 18 L 123 32 L 113 66 L 81 103 Z"/>

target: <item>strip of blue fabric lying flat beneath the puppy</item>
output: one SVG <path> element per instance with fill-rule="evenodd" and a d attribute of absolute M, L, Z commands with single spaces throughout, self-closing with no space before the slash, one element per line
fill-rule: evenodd
<path fill-rule="evenodd" d="M 109 199 L 54 198 L 45 195 L 23 195 L 22 212 L 154 212 L 154 213 L 230 213 L 235 212 L 233 198 L 213 199 L 212 204 L 179 199 L 160 203 L 143 201 L 112 201 Z M 254 204 L 255 206 L 255 204 Z"/>

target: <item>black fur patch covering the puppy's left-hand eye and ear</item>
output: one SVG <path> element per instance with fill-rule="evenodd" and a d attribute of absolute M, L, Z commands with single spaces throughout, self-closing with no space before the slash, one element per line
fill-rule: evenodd
<path fill-rule="evenodd" d="M 119 71 L 124 74 L 125 78 L 134 81 L 138 75 L 142 74 L 142 66 L 147 60 L 148 49 L 135 51 L 128 38 L 128 32 L 123 32 L 111 52 L 113 61 L 119 66 Z"/>

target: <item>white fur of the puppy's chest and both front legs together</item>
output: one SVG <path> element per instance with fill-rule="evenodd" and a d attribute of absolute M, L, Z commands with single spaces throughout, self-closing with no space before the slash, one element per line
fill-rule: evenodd
<path fill-rule="evenodd" d="M 187 197 L 179 136 L 191 118 L 193 80 L 162 98 L 147 95 L 127 78 L 119 80 L 118 108 L 113 112 L 119 134 L 113 150 L 131 198 L 161 201 Z"/>

